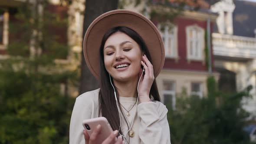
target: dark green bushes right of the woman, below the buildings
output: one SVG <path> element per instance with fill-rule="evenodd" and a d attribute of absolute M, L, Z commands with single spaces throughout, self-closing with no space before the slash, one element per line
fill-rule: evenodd
<path fill-rule="evenodd" d="M 249 135 L 243 131 L 249 113 L 240 103 L 249 96 L 249 88 L 224 95 L 217 91 L 212 76 L 207 88 L 207 97 L 183 93 L 177 96 L 176 110 L 168 108 L 172 144 L 249 144 Z"/>

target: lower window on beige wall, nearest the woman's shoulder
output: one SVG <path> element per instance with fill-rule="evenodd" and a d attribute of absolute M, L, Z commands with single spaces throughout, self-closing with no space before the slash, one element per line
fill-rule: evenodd
<path fill-rule="evenodd" d="M 173 110 L 175 110 L 176 105 L 176 95 L 175 95 L 175 83 L 173 81 L 164 81 L 163 98 L 164 105 L 171 105 Z"/>

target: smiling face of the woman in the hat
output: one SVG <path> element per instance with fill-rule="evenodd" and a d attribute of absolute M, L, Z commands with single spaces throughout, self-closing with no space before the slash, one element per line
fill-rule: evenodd
<path fill-rule="evenodd" d="M 116 81 L 138 79 L 141 69 L 141 49 L 131 37 L 116 32 L 108 37 L 104 45 L 104 64 Z"/>

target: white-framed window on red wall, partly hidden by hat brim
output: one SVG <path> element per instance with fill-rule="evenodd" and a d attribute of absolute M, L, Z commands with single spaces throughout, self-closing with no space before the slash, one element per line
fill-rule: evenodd
<path fill-rule="evenodd" d="M 177 58 L 177 26 L 170 24 L 171 26 L 161 27 L 161 36 L 164 41 L 165 56 L 169 58 Z"/>

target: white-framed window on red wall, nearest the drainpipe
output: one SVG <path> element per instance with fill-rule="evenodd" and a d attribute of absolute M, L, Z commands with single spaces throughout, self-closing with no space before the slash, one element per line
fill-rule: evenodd
<path fill-rule="evenodd" d="M 204 30 L 199 26 L 187 26 L 187 59 L 203 60 Z"/>

